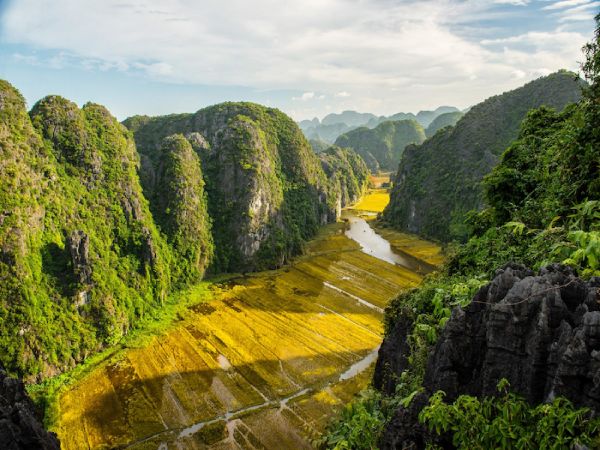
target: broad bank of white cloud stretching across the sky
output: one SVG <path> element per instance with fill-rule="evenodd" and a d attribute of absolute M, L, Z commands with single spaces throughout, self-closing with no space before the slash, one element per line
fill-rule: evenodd
<path fill-rule="evenodd" d="M 548 14 L 584 5 L 574 2 L 555 2 Z M 442 103 L 465 107 L 517 87 L 540 68 L 577 67 L 587 40 L 580 33 L 477 42 L 456 31 L 479 19 L 509 20 L 495 3 L 18 0 L 8 3 L 0 30 L 5 41 L 57 51 L 63 65 L 141 71 L 170 83 L 291 90 L 302 93 L 293 97 L 295 106 L 286 94 L 299 114 L 312 114 L 315 103 L 325 109 L 317 100 L 326 97 L 332 109 L 389 114 Z"/>

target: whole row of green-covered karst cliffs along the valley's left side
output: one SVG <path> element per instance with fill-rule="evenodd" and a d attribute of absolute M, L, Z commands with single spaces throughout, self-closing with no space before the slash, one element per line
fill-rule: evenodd
<path fill-rule="evenodd" d="M 51 96 L 28 114 L 0 85 L 0 363 L 12 373 L 73 367 L 209 265 L 283 264 L 367 183 L 358 155 L 317 156 L 259 105 L 127 125 L 141 154 L 102 106 Z"/>

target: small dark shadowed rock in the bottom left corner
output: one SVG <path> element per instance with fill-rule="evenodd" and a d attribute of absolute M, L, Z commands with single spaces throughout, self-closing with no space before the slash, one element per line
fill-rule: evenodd
<path fill-rule="evenodd" d="M 0 369 L 0 448 L 4 450 L 59 450 L 54 433 L 44 429 L 35 406 L 20 380 Z"/>

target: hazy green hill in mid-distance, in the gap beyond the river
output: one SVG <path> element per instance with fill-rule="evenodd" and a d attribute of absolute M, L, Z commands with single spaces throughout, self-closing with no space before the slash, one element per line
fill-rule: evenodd
<path fill-rule="evenodd" d="M 373 172 L 395 170 L 409 144 L 425 140 L 423 127 L 414 120 L 383 122 L 374 129 L 360 127 L 339 136 L 335 145 L 348 147 L 363 157 Z"/>

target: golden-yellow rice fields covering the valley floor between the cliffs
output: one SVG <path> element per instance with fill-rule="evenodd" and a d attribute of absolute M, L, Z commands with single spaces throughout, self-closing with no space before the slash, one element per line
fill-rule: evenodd
<path fill-rule="evenodd" d="M 63 448 L 310 448 L 369 383 L 383 308 L 422 278 L 361 251 L 347 227 L 324 228 L 288 267 L 212 285 L 172 329 L 70 386 Z"/>

